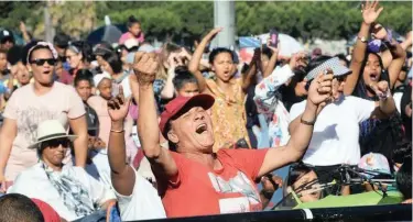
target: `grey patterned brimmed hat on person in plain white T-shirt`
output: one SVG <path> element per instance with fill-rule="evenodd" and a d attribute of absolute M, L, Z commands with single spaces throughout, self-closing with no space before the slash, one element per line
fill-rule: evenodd
<path fill-rule="evenodd" d="M 351 70 L 348 69 L 346 66 L 341 65 L 338 57 L 333 57 L 320 64 L 319 66 L 315 67 L 311 70 L 307 76 L 305 77 L 308 81 L 313 80 L 319 73 L 330 68 L 335 77 L 345 76 L 351 74 Z"/>

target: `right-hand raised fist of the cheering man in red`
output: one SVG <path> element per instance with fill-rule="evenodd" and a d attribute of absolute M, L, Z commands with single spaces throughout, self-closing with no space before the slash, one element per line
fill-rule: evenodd
<path fill-rule="evenodd" d="M 315 106 L 323 106 L 332 99 L 333 73 L 327 70 L 327 74 L 320 73 L 312 81 L 308 89 L 307 102 Z"/>

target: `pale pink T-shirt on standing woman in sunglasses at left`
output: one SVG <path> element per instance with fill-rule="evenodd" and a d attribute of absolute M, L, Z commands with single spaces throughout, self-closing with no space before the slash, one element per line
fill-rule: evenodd
<path fill-rule="evenodd" d="M 14 180 L 20 171 L 37 163 L 36 151 L 28 147 L 36 140 L 39 123 L 58 120 L 68 129 L 68 120 L 77 119 L 85 112 L 85 106 L 72 86 L 55 81 L 52 90 L 42 96 L 34 93 L 33 84 L 15 90 L 3 113 L 4 118 L 14 120 L 18 127 L 6 167 L 6 179 Z"/>

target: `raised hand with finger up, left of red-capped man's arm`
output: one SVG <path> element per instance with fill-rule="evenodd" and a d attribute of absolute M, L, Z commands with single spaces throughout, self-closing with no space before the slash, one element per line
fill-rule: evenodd
<path fill-rule="evenodd" d="M 118 96 L 108 101 L 108 112 L 112 122 L 123 122 L 128 115 L 131 98 L 124 98 L 122 86 L 119 87 Z"/>

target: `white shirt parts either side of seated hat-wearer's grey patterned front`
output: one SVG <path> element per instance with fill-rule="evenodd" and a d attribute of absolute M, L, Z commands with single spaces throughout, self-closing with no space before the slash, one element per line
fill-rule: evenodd
<path fill-rule="evenodd" d="M 81 167 L 65 166 L 62 173 L 77 178 L 91 197 L 91 202 L 98 206 L 104 204 L 110 199 L 115 199 L 112 191 L 106 189 L 99 181 L 90 177 Z M 74 221 L 77 217 L 64 203 L 62 197 L 55 187 L 51 184 L 44 171 L 42 164 L 39 163 L 22 171 L 14 180 L 13 186 L 8 190 L 9 193 L 21 193 L 29 198 L 36 198 L 48 203 L 61 218 L 66 221 Z M 93 206 L 90 206 L 93 208 Z"/>

